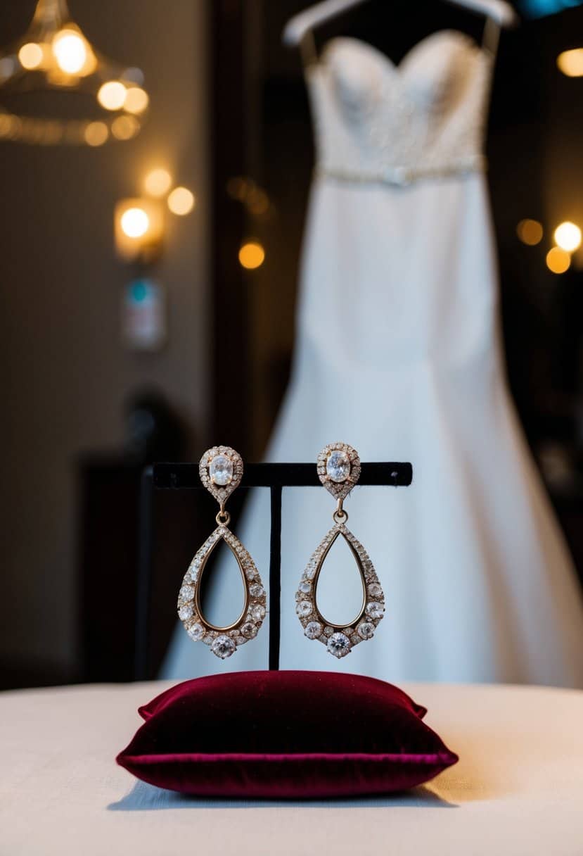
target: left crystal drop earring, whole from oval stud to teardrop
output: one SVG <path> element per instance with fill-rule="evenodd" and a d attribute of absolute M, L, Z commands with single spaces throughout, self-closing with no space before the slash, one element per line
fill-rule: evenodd
<path fill-rule="evenodd" d="M 228 446 L 215 446 L 206 451 L 200 459 L 198 473 L 205 488 L 219 503 L 219 513 L 215 518 L 218 526 L 197 551 L 182 580 L 178 596 L 178 617 L 191 639 L 209 645 L 213 654 L 224 660 L 237 651 L 238 645 L 244 645 L 249 639 L 256 637 L 266 614 L 266 596 L 255 562 L 243 544 L 227 528 L 231 515 L 225 511 L 225 503 L 243 478 L 241 455 Z M 237 621 L 228 627 L 215 627 L 211 624 L 204 617 L 200 602 L 204 569 L 221 540 L 227 544 L 237 560 L 244 586 L 243 611 Z"/>

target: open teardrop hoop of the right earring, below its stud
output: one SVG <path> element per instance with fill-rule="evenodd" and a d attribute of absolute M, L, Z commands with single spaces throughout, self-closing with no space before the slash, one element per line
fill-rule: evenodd
<path fill-rule="evenodd" d="M 352 550 L 364 592 L 362 608 L 355 620 L 341 626 L 327 621 L 315 602 L 318 577 L 336 538 L 344 538 Z M 336 523 L 310 557 L 297 587 L 296 613 L 308 639 L 317 639 L 326 645 L 333 657 L 346 657 L 355 645 L 374 636 L 385 615 L 385 595 L 370 556 L 344 523 Z"/>

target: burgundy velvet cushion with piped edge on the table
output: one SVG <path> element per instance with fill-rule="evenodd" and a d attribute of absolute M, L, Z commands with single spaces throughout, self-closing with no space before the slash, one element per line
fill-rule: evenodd
<path fill-rule="evenodd" d="M 329 672 L 236 672 L 185 681 L 139 709 L 117 763 L 205 797 L 321 798 L 412 788 L 455 764 L 392 684 Z"/>

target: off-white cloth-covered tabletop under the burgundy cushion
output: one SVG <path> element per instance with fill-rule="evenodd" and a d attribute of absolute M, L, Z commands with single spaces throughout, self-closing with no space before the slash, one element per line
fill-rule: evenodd
<path fill-rule="evenodd" d="M 0 856 L 583 854 L 583 692 L 407 684 L 459 764 L 392 797 L 246 803 L 115 765 L 168 686 L 0 693 Z"/>

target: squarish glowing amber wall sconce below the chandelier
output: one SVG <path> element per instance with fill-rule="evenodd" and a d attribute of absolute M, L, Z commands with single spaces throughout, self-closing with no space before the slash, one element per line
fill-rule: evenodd
<path fill-rule="evenodd" d="M 115 205 L 115 249 L 124 261 L 150 263 L 162 251 L 164 217 L 154 199 L 121 199 Z"/>

